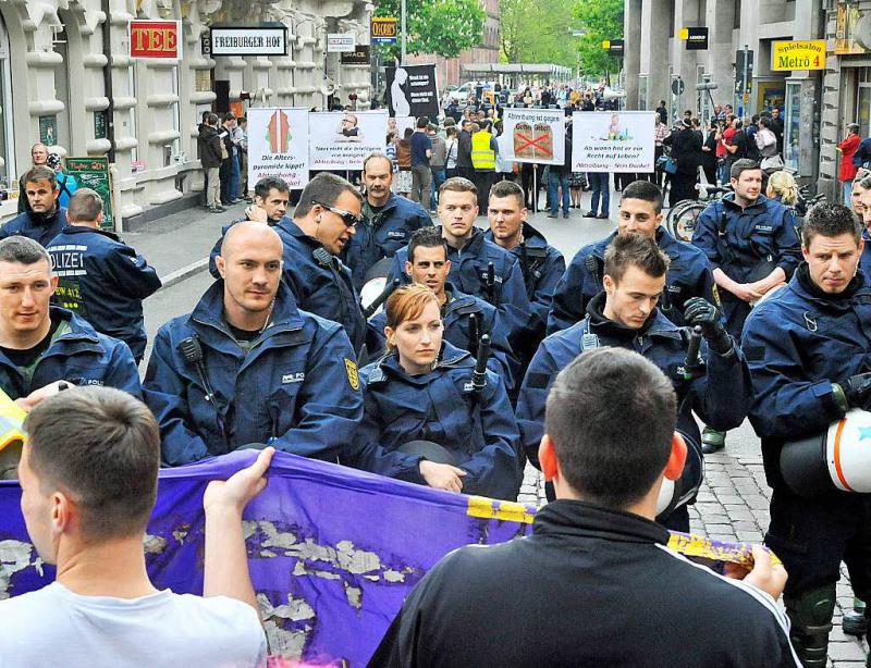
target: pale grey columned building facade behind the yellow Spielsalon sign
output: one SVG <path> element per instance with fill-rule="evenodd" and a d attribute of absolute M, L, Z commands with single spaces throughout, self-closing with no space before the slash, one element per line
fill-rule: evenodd
<path fill-rule="evenodd" d="M 829 88 L 839 77 L 831 62 L 835 59 L 827 59 L 823 71 L 776 71 L 772 42 L 826 39 L 827 50 L 834 49 L 827 21 L 834 12 L 826 10 L 834 4 L 833 0 L 625 0 L 626 107 L 655 109 L 664 100 L 673 116 L 691 109 L 702 119 L 710 117 L 714 104 L 732 104 L 741 116 L 777 107 L 784 117 L 786 164 L 798 171 L 802 182 L 827 188 L 826 143 L 838 135 L 824 119 L 832 97 Z M 708 28 L 707 49 L 687 48 L 682 29 L 692 27 Z M 745 47 L 746 88 L 739 83 L 744 76 L 739 51 Z M 706 84 L 708 90 L 697 88 Z M 716 87 L 710 89 L 711 84 Z"/>

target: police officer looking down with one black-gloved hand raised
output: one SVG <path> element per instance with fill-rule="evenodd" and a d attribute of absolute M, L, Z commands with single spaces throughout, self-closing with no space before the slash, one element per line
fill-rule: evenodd
<path fill-rule="evenodd" d="M 520 437 L 526 454 L 537 466 L 548 391 L 556 374 L 575 357 L 599 346 L 636 350 L 672 380 L 678 397 L 678 429 L 697 453 L 700 437 L 692 411 L 720 429 L 738 426 L 747 417 L 747 367 L 716 308 L 701 297 L 686 305 L 685 322 L 699 325 L 707 341 L 699 346 L 700 362 L 688 359 L 689 331 L 657 308 L 665 286 L 668 256 L 655 240 L 640 234 L 617 235 L 605 251 L 604 261 L 604 292 L 587 305 L 584 320 L 541 343 L 520 388 Z M 689 530 L 686 506 L 663 521 L 671 529 Z"/>

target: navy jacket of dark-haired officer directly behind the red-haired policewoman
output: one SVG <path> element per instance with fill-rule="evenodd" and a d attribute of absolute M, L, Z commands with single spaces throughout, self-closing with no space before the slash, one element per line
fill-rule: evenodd
<path fill-rule="evenodd" d="M 480 336 L 490 334 L 490 359 L 487 367 L 502 378 L 505 389 L 511 393 L 515 384 L 519 383 L 519 363 L 505 336 L 507 327 L 502 325 L 499 311 L 483 299 L 464 295 L 451 283 L 444 284 L 444 290 L 450 298 L 442 306 L 442 337 L 455 348 L 467 350 L 475 357 L 478 354 Z M 473 316 L 480 318 L 480 332 L 474 332 L 478 325 L 471 324 Z M 387 347 L 387 336 L 384 336 L 387 324 L 388 317 L 383 310 L 369 320 L 366 349 L 372 357 L 380 356 Z"/>

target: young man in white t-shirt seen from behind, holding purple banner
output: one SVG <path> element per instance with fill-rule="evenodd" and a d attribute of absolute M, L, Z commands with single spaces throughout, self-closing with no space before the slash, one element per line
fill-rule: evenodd
<path fill-rule="evenodd" d="M 242 510 L 274 450 L 204 496 L 204 597 L 157 590 L 143 537 L 157 494 L 160 435 L 144 404 L 108 387 L 60 392 L 27 417 L 19 478 L 48 586 L 0 601 L 0 667 L 266 665 Z"/>

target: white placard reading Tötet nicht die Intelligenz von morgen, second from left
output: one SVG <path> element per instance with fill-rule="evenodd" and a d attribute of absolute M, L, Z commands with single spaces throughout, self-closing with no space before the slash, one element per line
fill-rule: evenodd
<path fill-rule="evenodd" d="M 383 151 L 388 112 L 317 112 L 308 114 L 309 168 L 361 170 L 372 151 Z"/>

